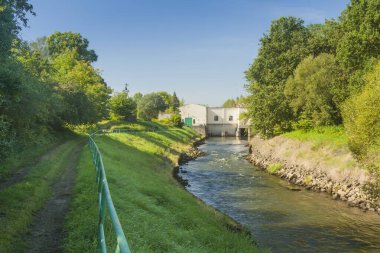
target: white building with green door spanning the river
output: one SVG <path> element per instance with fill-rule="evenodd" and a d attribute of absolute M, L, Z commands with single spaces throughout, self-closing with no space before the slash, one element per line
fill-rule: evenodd
<path fill-rule="evenodd" d="M 240 119 L 245 108 L 206 107 L 189 104 L 179 108 L 186 126 L 207 136 L 240 136 L 248 134 L 248 122 Z"/>

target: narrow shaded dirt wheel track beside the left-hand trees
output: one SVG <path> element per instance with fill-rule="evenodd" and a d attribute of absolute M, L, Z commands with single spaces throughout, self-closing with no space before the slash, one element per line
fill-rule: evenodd
<path fill-rule="evenodd" d="M 32 163 L 22 166 L 17 172 L 15 172 L 10 178 L 6 179 L 6 181 L 0 181 L 0 192 L 22 180 L 29 174 L 29 171 L 33 169 L 38 163 L 41 161 L 48 159 L 51 154 L 56 152 L 56 150 L 61 147 L 63 144 L 59 144 L 54 146 L 49 152 L 44 155 L 37 157 Z"/>

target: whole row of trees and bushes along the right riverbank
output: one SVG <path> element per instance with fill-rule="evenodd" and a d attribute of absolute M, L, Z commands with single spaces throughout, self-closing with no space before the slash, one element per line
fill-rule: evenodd
<path fill-rule="evenodd" d="M 351 0 L 323 24 L 272 21 L 245 71 L 254 130 L 271 137 L 343 124 L 356 154 L 379 145 L 379 10 L 379 0 Z"/>

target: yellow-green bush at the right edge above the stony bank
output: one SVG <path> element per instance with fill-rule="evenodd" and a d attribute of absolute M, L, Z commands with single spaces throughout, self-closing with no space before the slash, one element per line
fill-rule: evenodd
<path fill-rule="evenodd" d="M 365 76 L 366 85 L 342 108 L 349 147 L 358 156 L 380 144 L 380 60 Z"/>

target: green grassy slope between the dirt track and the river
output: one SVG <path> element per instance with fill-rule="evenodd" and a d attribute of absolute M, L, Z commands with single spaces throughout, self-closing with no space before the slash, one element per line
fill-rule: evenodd
<path fill-rule="evenodd" d="M 173 179 L 172 164 L 196 137 L 190 129 L 97 137 L 112 198 L 133 252 L 257 251 L 249 235 L 228 229 L 235 225 L 232 220 Z M 94 177 L 86 149 L 66 226 L 67 252 L 96 250 Z M 107 232 L 112 234 L 109 227 Z"/>

